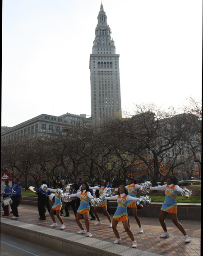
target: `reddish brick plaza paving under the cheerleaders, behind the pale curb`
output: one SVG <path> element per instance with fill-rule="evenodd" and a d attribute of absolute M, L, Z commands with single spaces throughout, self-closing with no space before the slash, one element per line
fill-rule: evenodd
<path fill-rule="evenodd" d="M 29 205 L 20 205 L 18 207 L 19 216 L 18 220 L 15 222 L 24 222 L 32 225 L 46 227 L 52 230 L 60 231 L 60 223 L 56 218 L 56 222 L 58 223 L 58 227 L 50 227 L 52 224 L 51 217 L 48 213 L 46 213 L 46 220 L 40 221 L 37 207 L 29 206 Z M 61 232 L 68 232 L 70 234 L 77 234 L 79 231 L 79 227 L 75 222 L 75 217 L 72 210 L 69 210 L 70 217 L 62 217 L 66 229 Z M 1 215 L 3 212 L 1 212 Z M 1 217 L 2 219 L 11 219 L 13 215 L 7 217 Z M 132 242 L 128 237 L 126 232 L 123 232 L 122 223 L 118 224 L 118 230 L 120 232 L 120 238 L 122 243 L 120 245 L 114 245 L 113 241 L 115 241 L 115 235 L 112 228 L 109 227 L 109 222 L 104 216 L 103 213 L 99 213 L 101 218 L 102 225 L 96 226 L 94 223 L 96 221 L 90 221 L 90 231 L 93 235 L 94 239 L 99 241 L 106 241 L 112 243 L 112 246 L 126 246 L 126 252 L 132 246 Z M 111 218 L 113 216 L 111 215 Z M 135 221 L 134 217 L 129 216 L 131 230 L 134 234 L 134 238 L 137 242 L 137 248 L 133 250 L 141 250 L 144 252 L 154 253 L 158 255 L 167 255 L 167 256 L 191 256 L 191 255 L 200 255 L 200 221 L 191 221 L 191 220 L 180 220 L 180 223 L 184 226 L 186 233 L 189 235 L 191 242 L 185 243 L 185 237 L 182 233 L 175 227 L 175 225 L 171 222 L 170 219 L 166 219 L 166 226 L 168 227 L 168 232 L 170 233 L 170 237 L 168 238 L 160 238 L 162 234 L 162 228 L 160 226 L 159 220 L 157 218 L 146 218 L 140 217 L 140 221 L 143 227 L 143 233 L 138 233 L 138 225 Z M 81 220 L 84 225 L 84 220 Z M 87 239 L 85 235 L 79 235 L 80 237 L 84 237 Z M 92 239 L 92 238 L 88 238 Z M 109 243 L 109 244 L 110 244 Z M 111 245 L 111 244 L 110 244 Z M 121 248 L 121 247 L 120 247 Z M 123 247 L 122 247 L 123 248 Z M 116 255 L 116 254 L 114 254 Z M 127 256 L 128 254 L 126 254 Z"/>

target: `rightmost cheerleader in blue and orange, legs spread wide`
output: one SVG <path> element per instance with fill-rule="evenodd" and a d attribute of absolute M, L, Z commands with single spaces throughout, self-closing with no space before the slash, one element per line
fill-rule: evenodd
<path fill-rule="evenodd" d="M 178 192 L 182 192 L 182 188 L 178 185 L 178 179 L 175 176 L 170 176 L 166 180 L 166 184 L 158 187 L 151 187 L 151 190 L 163 190 L 165 191 L 165 201 L 161 206 L 161 211 L 159 215 L 159 221 L 161 223 L 161 227 L 164 230 L 164 233 L 161 237 L 169 237 L 169 233 L 166 228 L 166 223 L 164 221 L 166 215 L 168 213 L 171 214 L 171 220 L 175 224 L 176 227 L 183 233 L 185 236 L 185 243 L 190 242 L 189 236 L 186 234 L 184 227 L 178 222 L 177 216 L 177 203 L 176 203 L 176 195 Z"/>

